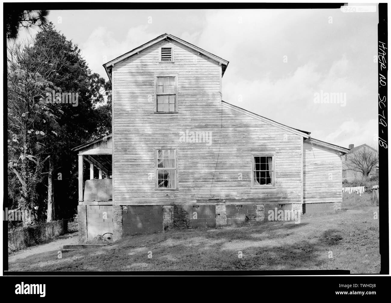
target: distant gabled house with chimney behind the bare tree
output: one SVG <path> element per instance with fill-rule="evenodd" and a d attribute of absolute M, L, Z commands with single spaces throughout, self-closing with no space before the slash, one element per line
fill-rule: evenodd
<path fill-rule="evenodd" d="M 348 182 L 352 182 L 354 180 L 361 180 L 363 178 L 362 172 L 354 170 L 352 167 L 351 158 L 354 155 L 362 152 L 364 149 L 369 149 L 369 151 L 378 152 L 373 147 L 370 147 L 367 144 L 362 144 L 357 147 L 354 147 L 354 144 L 349 144 L 350 151 L 342 157 L 342 180 L 348 180 Z M 368 177 L 375 176 L 378 174 L 379 165 L 375 165 L 373 169 L 370 170 Z"/>

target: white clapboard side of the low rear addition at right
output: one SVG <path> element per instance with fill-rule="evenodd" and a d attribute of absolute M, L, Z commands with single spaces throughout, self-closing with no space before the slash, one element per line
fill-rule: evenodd
<path fill-rule="evenodd" d="M 304 203 L 342 202 L 341 158 L 337 151 L 304 142 Z"/>

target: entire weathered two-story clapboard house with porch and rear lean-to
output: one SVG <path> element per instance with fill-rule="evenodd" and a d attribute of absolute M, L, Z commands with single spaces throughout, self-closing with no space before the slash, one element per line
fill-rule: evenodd
<path fill-rule="evenodd" d="M 80 237 L 341 209 L 348 149 L 222 101 L 228 61 L 163 34 L 103 66 L 113 133 L 73 149 Z"/>

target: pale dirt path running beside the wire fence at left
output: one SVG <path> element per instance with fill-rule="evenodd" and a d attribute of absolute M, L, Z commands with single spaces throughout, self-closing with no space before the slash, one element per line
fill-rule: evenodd
<path fill-rule="evenodd" d="M 60 236 L 56 240 L 49 243 L 31 246 L 29 248 L 9 254 L 8 264 L 10 265 L 12 263 L 17 263 L 18 260 L 28 258 L 33 255 L 38 255 L 41 253 L 54 252 L 55 254 L 57 254 L 57 251 L 62 250 L 63 245 L 68 245 L 68 244 L 77 244 L 77 232 L 68 233 L 66 235 Z"/>

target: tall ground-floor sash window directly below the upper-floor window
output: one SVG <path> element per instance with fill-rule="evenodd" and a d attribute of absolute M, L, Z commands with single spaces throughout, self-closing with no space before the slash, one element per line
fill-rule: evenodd
<path fill-rule="evenodd" d="M 177 188 L 177 167 L 175 149 L 156 150 L 156 188 Z"/>

